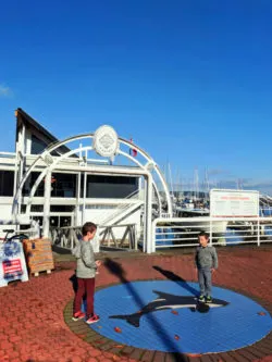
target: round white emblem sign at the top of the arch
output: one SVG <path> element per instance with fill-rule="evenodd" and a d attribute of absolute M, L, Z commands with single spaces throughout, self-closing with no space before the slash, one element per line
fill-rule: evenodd
<path fill-rule="evenodd" d="M 99 127 L 94 137 L 95 151 L 104 157 L 113 157 L 119 148 L 119 137 L 116 132 L 111 126 Z"/>

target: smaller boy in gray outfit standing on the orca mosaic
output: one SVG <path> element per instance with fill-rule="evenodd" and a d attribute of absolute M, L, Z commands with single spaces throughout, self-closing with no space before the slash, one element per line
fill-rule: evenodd
<path fill-rule="evenodd" d="M 209 235 L 198 234 L 199 247 L 196 250 L 195 263 L 200 288 L 199 301 L 211 303 L 212 273 L 218 269 L 218 254 L 214 247 L 208 246 Z"/>

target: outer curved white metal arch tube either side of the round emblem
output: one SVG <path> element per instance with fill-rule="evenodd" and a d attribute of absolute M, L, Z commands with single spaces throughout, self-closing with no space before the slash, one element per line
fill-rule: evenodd
<path fill-rule="evenodd" d="M 16 194 L 14 195 L 14 198 L 13 198 L 13 205 L 12 205 L 12 212 L 14 213 L 15 211 L 15 208 L 17 207 L 17 200 L 18 200 L 18 197 L 21 196 L 21 191 L 23 189 L 23 186 L 27 179 L 27 177 L 30 175 L 32 171 L 35 168 L 36 164 L 38 163 L 39 160 L 44 160 L 44 155 L 46 154 L 50 154 L 52 151 L 54 151 L 55 149 L 64 146 L 65 143 L 69 143 L 71 141 L 75 141 L 75 140 L 79 140 L 79 139 L 84 139 L 84 138 L 94 138 L 95 134 L 94 133 L 90 133 L 90 134 L 82 134 L 82 135 L 77 135 L 77 136 L 73 136 L 73 137 L 69 137 L 66 139 L 64 139 L 63 141 L 59 141 L 57 143 L 52 143 L 51 146 L 49 146 L 35 161 L 34 163 L 30 165 L 30 167 L 27 170 L 27 172 L 25 173 L 23 179 L 21 180 L 18 187 L 17 187 L 17 190 L 16 190 Z M 119 141 L 127 147 L 133 147 L 134 149 L 137 150 L 137 152 L 139 154 L 141 154 L 147 161 L 149 162 L 152 162 L 153 163 L 153 168 L 154 171 L 157 172 L 161 183 L 162 183 L 162 186 L 163 186 L 163 189 L 164 189 L 164 192 L 165 192 L 165 197 L 166 197 L 166 201 L 168 201 L 168 210 L 169 210 L 169 213 L 172 215 L 172 201 L 171 201 L 171 197 L 170 197 L 170 192 L 169 192 L 169 189 L 168 189 L 168 186 L 166 186 L 166 182 L 160 171 L 160 168 L 158 167 L 158 165 L 156 164 L 156 162 L 153 161 L 153 159 L 147 153 L 145 152 L 144 150 L 141 150 L 137 145 L 134 145 L 127 140 L 125 140 L 124 138 L 121 138 L 119 137 Z M 73 150 L 71 151 L 73 153 L 75 153 L 76 151 Z M 122 152 L 121 150 L 118 150 L 118 153 Z M 67 157 L 70 152 L 66 152 L 64 153 L 63 155 L 61 155 L 61 160 L 65 157 Z M 128 155 L 127 153 L 125 153 L 126 157 L 128 157 L 131 160 L 134 160 L 133 158 L 131 158 L 131 155 Z M 136 161 L 136 160 L 134 160 Z M 57 164 L 57 163 L 55 163 Z M 140 167 L 143 167 L 143 165 L 140 164 Z M 48 167 L 46 167 L 47 170 Z M 42 172 L 44 173 L 44 172 Z M 41 180 L 41 179 L 40 179 Z M 40 183 L 39 180 L 39 183 Z M 36 184 L 36 183 L 35 183 Z M 16 210 L 17 211 L 17 210 Z"/>

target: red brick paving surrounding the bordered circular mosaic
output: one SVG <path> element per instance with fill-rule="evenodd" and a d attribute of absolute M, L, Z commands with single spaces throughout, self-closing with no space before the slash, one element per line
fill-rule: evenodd
<path fill-rule="evenodd" d="M 115 260 L 116 261 L 116 260 Z M 261 298 L 263 305 L 272 303 L 272 248 L 219 250 L 220 267 L 214 285 L 238 289 Z M 133 279 L 163 278 L 153 265 L 169 270 L 187 280 L 196 280 L 193 255 L 141 255 L 119 259 Z M 75 264 L 59 263 L 51 275 L 33 277 L 27 283 L 13 283 L 0 288 L 0 362 L 112 362 L 135 361 L 128 355 L 119 357 L 94 348 L 73 334 L 63 319 L 63 310 L 73 297 L 72 284 Z M 97 285 L 119 283 L 106 267 L 97 276 Z M 272 339 L 267 342 L 268 351 Z M 251 348 L 252 350 L 252 348 Z M 224 357 L 188 358 L 188 361 L 272 361 L 272 353 L 256 358 L 251 350 L 234 351 Z M 143 361 L 163 361 L 160 353 L 145 353 Z M 165 361 L 171 361 L 169 357 Z M 164 362 L 164 361 L 163 361 Z"/>

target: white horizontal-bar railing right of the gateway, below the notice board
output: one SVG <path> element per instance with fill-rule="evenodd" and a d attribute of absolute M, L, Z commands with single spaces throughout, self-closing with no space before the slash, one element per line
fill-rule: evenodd
<path fill-rule="evenodd" d="M 272 217 L 172 217 L 152 224 L 152 251 L 160 248 L 196 247 L 205 230 L 210 245 L 232 246 L 272 242 Z"/>

